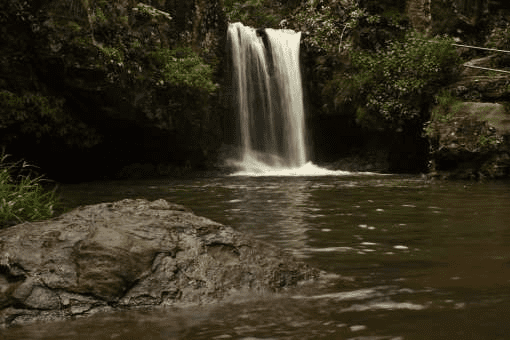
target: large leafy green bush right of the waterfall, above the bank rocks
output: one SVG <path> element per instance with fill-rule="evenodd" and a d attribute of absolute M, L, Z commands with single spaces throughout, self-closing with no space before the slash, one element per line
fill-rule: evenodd
<path fill-rule="evenodd" d="M 440 86 L 452 81 L 459 64 L 450 39 L 435 41 L 410 33 L 384 50 L 351 54 L 356 73 L 347 82 L 364 106 L 358 115 L 362 124 L 398 130 L 425 118 L 423 108 Z"/>

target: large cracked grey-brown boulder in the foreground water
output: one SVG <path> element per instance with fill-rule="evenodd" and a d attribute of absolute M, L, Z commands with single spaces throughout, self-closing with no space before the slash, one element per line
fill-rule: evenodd
<path fill-rule="evenodd" d="M 126 199 L 0 231 L 0 328 L 278 291 L 318 271 L 165 200 Z"/>

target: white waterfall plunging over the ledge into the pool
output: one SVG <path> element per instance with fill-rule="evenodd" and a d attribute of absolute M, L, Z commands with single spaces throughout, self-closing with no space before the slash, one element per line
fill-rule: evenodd
<path fill-rule="evenodd" d="M 306 164 L 301 33 L 230 24 L 232 88 L 247 171 Z"/>

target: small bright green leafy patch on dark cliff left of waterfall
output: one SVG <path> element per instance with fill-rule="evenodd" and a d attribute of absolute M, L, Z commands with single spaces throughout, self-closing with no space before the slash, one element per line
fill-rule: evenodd
<path fill-rule="evenodd" d="M 174 86 L 184 86 L 214 92 L 213 70 L 190 48 L 158 49 L 151 52 L 161 70 L 163 80 Z"/>

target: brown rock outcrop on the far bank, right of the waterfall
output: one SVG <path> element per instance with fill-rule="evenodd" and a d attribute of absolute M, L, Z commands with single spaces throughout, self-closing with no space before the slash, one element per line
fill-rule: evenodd
<path fill-rule="evenodd" d="M 430 127 L 435 131 L 431 138 L 431 176 L 510 176 L 510 114 L 503 105 L 463 102 Z"/>

